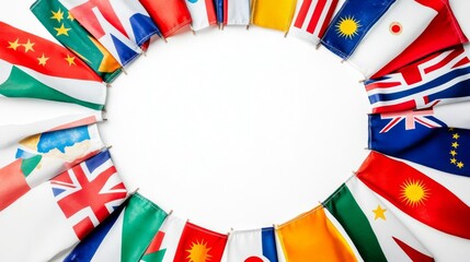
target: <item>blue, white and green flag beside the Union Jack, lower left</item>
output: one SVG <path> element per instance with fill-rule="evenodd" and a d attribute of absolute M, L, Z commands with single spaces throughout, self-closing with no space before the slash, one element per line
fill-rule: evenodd
<path fill-rule="evenodd" d="M 167 213 L 136 193 L 88 235 L 65 262 L 139 261 Z"/>

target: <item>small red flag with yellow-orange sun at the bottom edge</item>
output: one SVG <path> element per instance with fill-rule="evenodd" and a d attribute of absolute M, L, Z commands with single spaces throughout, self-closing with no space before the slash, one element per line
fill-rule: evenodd
<path fill-rule="evenodd" d="M 186 223 L 177 245 L 174 261 L 220 261 L 227 235 Z"/>

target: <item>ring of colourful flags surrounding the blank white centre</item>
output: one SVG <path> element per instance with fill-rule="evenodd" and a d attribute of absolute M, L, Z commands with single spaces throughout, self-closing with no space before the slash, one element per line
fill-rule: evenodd
<path fill-rule="evenodd" d="M 0 261 L 440 259 L 410 221 L 469 247 L 461 189 L 470 177 L 469 8 L 463 0 L 36 0 L 31 11 L 61 45 L 0 22 L 0 96 L 85 110 L 0 126 L 0 228 L 9 228 Z M 221 234 L 129 192 L 96 123 L 107 85 L 151 38 L 232 25 L 297 36 L 360 71 L 370 153 L 311 211 Z"/>

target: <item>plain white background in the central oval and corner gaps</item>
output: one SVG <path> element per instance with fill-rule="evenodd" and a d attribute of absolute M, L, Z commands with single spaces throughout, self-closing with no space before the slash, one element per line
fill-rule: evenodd
<path fill-rule="evenodd" d="M 53 39 L 31 3 L 3 3 L 0 20 Z M 113 83 L 100 124 L 129 190 L 214 230 L 259 228 L 314 207 L 366 157 L 362 75 L 326 49 L 256 27 L 168 40 Z M 470 255 L 414 230 L 442 261 Z"/>

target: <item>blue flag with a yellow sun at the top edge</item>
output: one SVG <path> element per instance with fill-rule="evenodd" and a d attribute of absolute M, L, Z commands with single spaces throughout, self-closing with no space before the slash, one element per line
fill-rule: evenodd
<path fill-rule="evenodd" d="M 348 58 L 367 32 L 394 1 L 346 0 L 331 21 L 321 40 L 322 44 L 341 58 Z"/>

